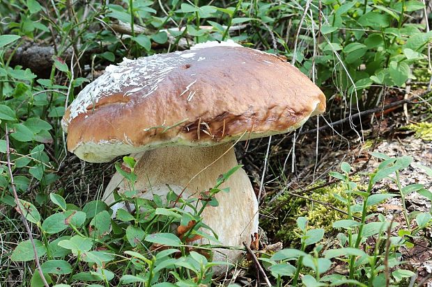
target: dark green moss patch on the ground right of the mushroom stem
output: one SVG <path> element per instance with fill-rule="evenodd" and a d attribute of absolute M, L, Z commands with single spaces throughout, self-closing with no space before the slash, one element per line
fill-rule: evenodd
<path fill-rule="evenodd" d="M 346 197 L 344 185 L 337 183 L 325 188 L 314 190 L 311 195 L 307 195 L 310 199 L 316 199 L 320 202 L 325 202 L 339 208 L 346 210 L 346 206 L 339 202 L 334 195 Z M 280 206 L 276 214 L 275 206 Z M 279 197 L 275 204 L 267 208 L 268 216 L 262 218 L 260 225 L 268 234 L 268 237 L 276 241 L 282 241 L 284 246 L 299 247 L 300 240 L 296 233 L 299 233 L 296 220 L 300 216 L 305 216 L 308 219 L 309 228 L 323 228 L 326 233 L 332 232 L 332 223 L 345 218 L 345 215 L 339 211 L 335 211 L 329 206 L 311 202 L 308 199 L 294 197 L 292 195 L 282 195 Z M 265 213 L 264 213 L 265 215 Z"/>

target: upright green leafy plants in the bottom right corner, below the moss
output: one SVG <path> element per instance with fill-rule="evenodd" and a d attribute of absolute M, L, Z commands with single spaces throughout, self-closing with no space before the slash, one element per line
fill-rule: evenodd
<path fill-rule="evenodd" d="M 344 195 L 337 199 L 346 206 L 347 216 L 332 224 L 334 229 L 342 230 L 337 235 L 339 248 L 325 249 L 325 245 L 318 244 L 323 239 L 324 229 L 309 229 L 307 218 L 300 217 L 297 219 L 300 229 L 297 236 L 300 238 L 301 248 L 282 249 L 270 259 L 261 259 L 277 280 L 277 286 L 297 286 L 300 278 L 304 286 L 385 286 L 386 282 L 397 284 L 415 274 L 410 270 L 396 268 L 403 264 L 398 249 L 401 246 L 414 246 L 412 238 L 431 226 L 432 216 L 431 212 L 408 213 L 405 197 L 410 192 L 419 192 L 432 201 L 432 192 L 424 189 L 421 184 L 401 186 L 399 172 L 411 164 L 412 158 L 409 156 L 390 158 L 385 154 L 372 155 L 383 161 L 374 172 L 366 174 L 369 178 L 366 190 L 357 188 L 357 183 L 350 180 L 351 167 L 348 163 L 341 163 L 343 173 L 330 172 L 330 175 L 339 179 L 345 187 Z M 399 194 L 373 194 L 373 186 L 383 179 L 394 181 L 399 188 Z M 389 197 L 401 197 L 403 203 L 406 229 L 399 229 L 396 236 L 393 235 L 396 222 L 387 220 L 380 213 L 367 212 L 368 208 Z M 357 212 L 360 212 L 361 218 L 355 218 L 354 213 Z M 369 241 L 371 237 L 375 238 L 373 245 Z M 346 275 L 330 272 L 335 264 L 344 266 Z"/>

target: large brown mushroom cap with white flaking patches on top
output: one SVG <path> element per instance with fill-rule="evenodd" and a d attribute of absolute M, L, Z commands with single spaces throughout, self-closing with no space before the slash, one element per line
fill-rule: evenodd
<path fill-rule="evenodd" d="M 208 42 L 107 67 L 62 124 L 69 151 L 106 162 L 167 145 L 286 133 L 324 110 L 323 92 L 284 59 L 232 41 Z"/>

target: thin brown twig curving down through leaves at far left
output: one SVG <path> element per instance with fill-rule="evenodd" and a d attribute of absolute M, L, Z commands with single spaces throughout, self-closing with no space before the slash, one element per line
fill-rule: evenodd
<path fill-rule="evenodd" d="M 10 176 L 10 185 L 12 186 L 13 191 L 13 197 L 15 197 L 15 203 L 17 204 L 17 210 L 21 215 L 22 222 L 24 223 L 24 227 L 26 227 L 26 231 L 29 234 L 31 247 L 33 247 L 33 253 L 35 254 L 35 261 L 36 261 L 36 267 L 38 268 L 38 272 L 40 275 L 40 279 L 43 281 L 43 284 L 45 287 L 49 287 L 47 280 L 45 279 L 45 276 L 43 275 L 42 268 L 40 267 L 40 262 L 38 258 L 38 251 L 36 250 L 36 245 L 33 240 L 33 236 L 31 235 L 31 229 L 29 227 L 29 222 L 27 222 L 26 217 L 24 216 L 24 212 L 21 209 L 20 205 L 20 199 L 17 195 L 17 190 L 15 189 L 15 183 L 13 182 L 13 174 L 12 174 L 12 165 L 10 164 L 10 149 L 9 149 L 9 131 L 8 131 L 8 124 L 6 124 L 6 158 L 8 161 L 8 170 L 9 170 L 9 176 Z"/>

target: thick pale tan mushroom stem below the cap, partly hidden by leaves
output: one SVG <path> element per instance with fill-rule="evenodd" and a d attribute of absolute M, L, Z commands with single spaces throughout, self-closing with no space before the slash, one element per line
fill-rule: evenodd
<path fill-rule="evenodd" d="M 176 146 L 135 154 L 137 181 L 134 188 L 144 190 L 141 197 L 148 199 L 153 199 L 153 194 L 165 198 L 169 188 L 177 194 L 185 189 L 183 197 L 199 197 L 200 192 L 215 186 L 220 174 L 238 165 L 234 149 L 230 147 L 229 144 Z M 196 174 L 199 175 L 194 177 Z M 127 186 L 120 174 L 114 174 L 105 190 L 105 202 L 114 202 L 112 191 L 115 188 L 120 188 L 119 192 L 122 192 Z M 258 231 L 258 202 L 249 177 L 241 168 L 220 186 L 226 187 L 229 192 L 221 191 L 216 195 L 219 206 L 207 206 L 201 216 L 203 222 L 217 233 L 223 245 L 241 247 L 242 242 L 249 244 L 251 234 Z M 240 255 L 238 250 L 218 250 L 213 260 L 235 262 Z"/>

